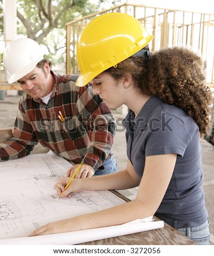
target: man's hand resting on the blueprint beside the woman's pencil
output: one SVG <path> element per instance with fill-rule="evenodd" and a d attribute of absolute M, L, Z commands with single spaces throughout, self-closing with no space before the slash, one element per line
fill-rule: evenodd
<path fill-rule="evenodd" d="M 79 167 L 79 164 L 75 164 L 72 166 L 68 171 L 67 171 L 67 177 L 72 177 L 74 174 L 75 170 Z M 83 164 L 81 168 L 79 169 L 79 172 L 75 175 L 75 179 L 84 179 L 84 178 L 89 178 L 95 174 L 95 170 L 89 166 L 88 164 Z"/>

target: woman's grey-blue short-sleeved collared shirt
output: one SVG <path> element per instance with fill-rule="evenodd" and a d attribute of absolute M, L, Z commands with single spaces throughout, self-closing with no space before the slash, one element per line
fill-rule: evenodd
<path fill-rule="evenodd" d="M 182 109 L 152 96 L 137 117 L 130 110 L 123 125 L 127 129 L 127 156 L 138 176 L 143 175 L 146 156 L 178 155 L 155 216 L 174 228 L 204 223 L 208 217 L 202 187 L 204 173 L 200 135 L 194 120 Z"/>

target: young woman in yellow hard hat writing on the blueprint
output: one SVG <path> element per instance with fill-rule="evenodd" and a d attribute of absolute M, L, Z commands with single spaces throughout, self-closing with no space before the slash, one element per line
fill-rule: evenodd
<path fill-rule="evenodd" d="M 205 85 L 203 62 L 180 47 L 165 48 L 150 57 L 150 40 L 139 21 L 119 13 L 97 17 L 81 33 L 77 85 L 92 80 L 93 93 L 110 108 L 125 104 L 130 109 L 123 120 L 128 163 L 118 173 L 74 179 L 67 190 L 67 177 L 54 187 L 62 197 L 71 197 L 71 192 L 139 186 L 135 200 L 49 223 L 31 235 L 105 227 L 156 215 L 198 244 L 209 244 L 200 135 L 209 127 L 212 97 Z"/>

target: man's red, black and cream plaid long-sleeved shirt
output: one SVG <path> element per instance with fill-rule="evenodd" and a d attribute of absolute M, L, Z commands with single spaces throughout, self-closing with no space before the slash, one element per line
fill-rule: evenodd
<path fill-rule="evenodd" d="M 47 105 L 22 95 L 13 138 L 0 144 L 0 161 L 26 156 L 40 142 L 73 164 L 84 160 L 96 170 L 111 151 L 115 118 L 102 99 L 92 93 L 91 84 L 77 87 L 76 76 L 53 75 L 55 85 Z M 64 122 L 58 117 L 59 111 Z"/>

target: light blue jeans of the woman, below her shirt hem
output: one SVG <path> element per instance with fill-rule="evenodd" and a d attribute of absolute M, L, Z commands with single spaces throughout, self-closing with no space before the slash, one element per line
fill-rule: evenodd
<path fill-rule="evenodd" d="M 177 230 L 193 240 L 197 245 L 210 244 L 209 219 L 197 227 L 178 228 Z"/>

